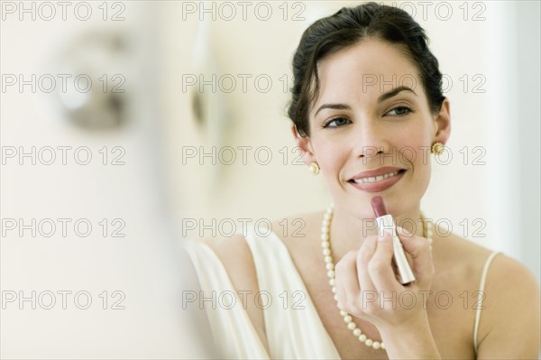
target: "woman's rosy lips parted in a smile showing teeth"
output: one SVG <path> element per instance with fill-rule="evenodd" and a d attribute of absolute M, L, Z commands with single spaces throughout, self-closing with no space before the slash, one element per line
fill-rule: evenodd
<path fill-rule="evenodd" d="M 396 167 L 382 167 L 371 171 L 363 171 L 348 180 L 357 189 L 367 192 L 379 192 L 396 184 L 406 170 Z"/>

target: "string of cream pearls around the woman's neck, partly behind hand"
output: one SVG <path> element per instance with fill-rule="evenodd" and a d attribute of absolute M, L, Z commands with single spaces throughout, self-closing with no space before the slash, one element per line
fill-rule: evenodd
<path fill-rule="evenodd" d="M 335 288 L 335 263 L 333 262 L 333 255 L 331 253 L 331 243 L 330 243 L 330 227 L 331 227 L 331 220 L 333 219 L 334 214 L 334 207 L 331 204 L 326 209 L 325 216 L 323 217 L 323 222 L 321 224 L 321 247 L 323 248 L 323 256 L 325 261 L 325 267 L 327 271 L 327 276 L 329 278 L 329 284 L 331 285 L 331 291 L 335 294 L 335 300 L 336 300 L 336 288 Z M 421 214 L 421 219 L 423 221 L 423 235 L 425 235 L 426 239 L 428 240 L 428 244 L 430 244 L 430 250 L 432 250 L 432 235 L 433 235 L 433 229 L 432 229 L 432 222 L 426 220 Z M 426 232 L 425 232 L 426 230 Z M 362 331 L 360 328 L 357 328 L 357 325 L 353 322 L 353 318 L 350 314 L 348 314 L 344 310 L 340 310 L 340 315 L 344 318 L 344 322 L 348 329 L 352 330 L 353 336 L 357 337 L 359 341 L 364 343 L 366 346 L 371 346 L 374 349 L 385 349 L 385 345 L 383 344 L 383 341 L 375 341 L 371 338 L 367 337 L 365 334 L 362 334 Z"/>

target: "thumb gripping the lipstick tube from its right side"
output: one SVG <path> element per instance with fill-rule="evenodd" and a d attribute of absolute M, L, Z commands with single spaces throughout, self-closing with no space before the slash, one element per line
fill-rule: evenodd
<path fill-rule="evenodd" d="M 403 228 L 400 228 L 397 233 L 404 251 L 411 257 L 411 270 L 415 273 L 417 284 L 425 288 L 434 275 L 432 251 L 428 240 L 425 237 L 411 235 Z"/>

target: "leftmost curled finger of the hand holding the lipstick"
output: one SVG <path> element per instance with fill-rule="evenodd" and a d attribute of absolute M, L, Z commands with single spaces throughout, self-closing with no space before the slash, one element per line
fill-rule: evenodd
<path fill-rule="evenodd" d="M 338 308 L 347 311 L 360 292 L 357 280 L 357 263 L 355 251 L 345 254 L 335 266 L 335 290 Z M 351 309 L 350 309 L 351 310 Z"/>

